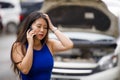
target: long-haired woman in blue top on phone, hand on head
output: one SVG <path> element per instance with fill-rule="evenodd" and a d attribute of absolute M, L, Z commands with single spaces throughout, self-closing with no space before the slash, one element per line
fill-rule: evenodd
<path fill-rule="evenodd" d="M 47 14 L 33 12 L 22 26 L 11 49 L 14 71 L 22 80 L 50 80 L 53 55 L 72 48 L 72 41 L 53 26 Z M 58 40 L 48 38 L 49 30 Z"/>

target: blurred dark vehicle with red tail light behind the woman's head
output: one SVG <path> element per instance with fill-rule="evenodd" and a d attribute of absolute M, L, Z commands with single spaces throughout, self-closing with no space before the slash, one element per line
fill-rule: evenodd
<path fill-rule="evenodd" d="M 27 0 L 21 1 L 21 14 L 20 14 L 20 23 L 33 11 L 37 11 L 41 8 L 44 0 Z"/>

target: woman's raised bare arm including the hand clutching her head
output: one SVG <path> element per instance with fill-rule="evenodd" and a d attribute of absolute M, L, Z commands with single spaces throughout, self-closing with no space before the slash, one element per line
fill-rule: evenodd
<path fill-rule="evenodd" d="M 49 16 L 46 14 L 46 17 L 49 22 L 50 30 L 56 35 L 58 40 L 51 40 L 52 42 L 52 50 L 53 52 L 68 50 L 73 47 L 73 42 L 69 39 L 69 37 L 65 36 L 61 31 L 59 31 L 54 25 L 51 23 Z"/>

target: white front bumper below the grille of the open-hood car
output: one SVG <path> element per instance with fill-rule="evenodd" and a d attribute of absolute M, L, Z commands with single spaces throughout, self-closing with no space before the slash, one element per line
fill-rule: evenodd
<path fill-rule="evenodd" d="M 116 80 L 119 78 L 119 67 L 115 67 L 103 72 L 91 74 L 89 76 L 67 76 L 67 75 L 52 75 L 52 79 L 57 80 Z"/>

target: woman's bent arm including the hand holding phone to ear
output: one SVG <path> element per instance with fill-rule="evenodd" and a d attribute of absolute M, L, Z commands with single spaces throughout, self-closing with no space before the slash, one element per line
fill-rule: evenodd
<path fill-rule="evenodd" d="M 28 48 L 26 50 L 26 47 L 24 45 L 24 48 L 22 48 L 21 43 L 15 43 L 13 45 L 13 53 L 12 58 L 14 62 L 16 63 L 17 68 L 24 74 L 28 74 L 33 61 L 33 35 L 32 32 L 27 32 L 27 39 L 28 39 Z M 24 50 L 22 50 L 24 49 Z M 25 51 L 25 56 L 23 55 L 23 51 Z"/>

